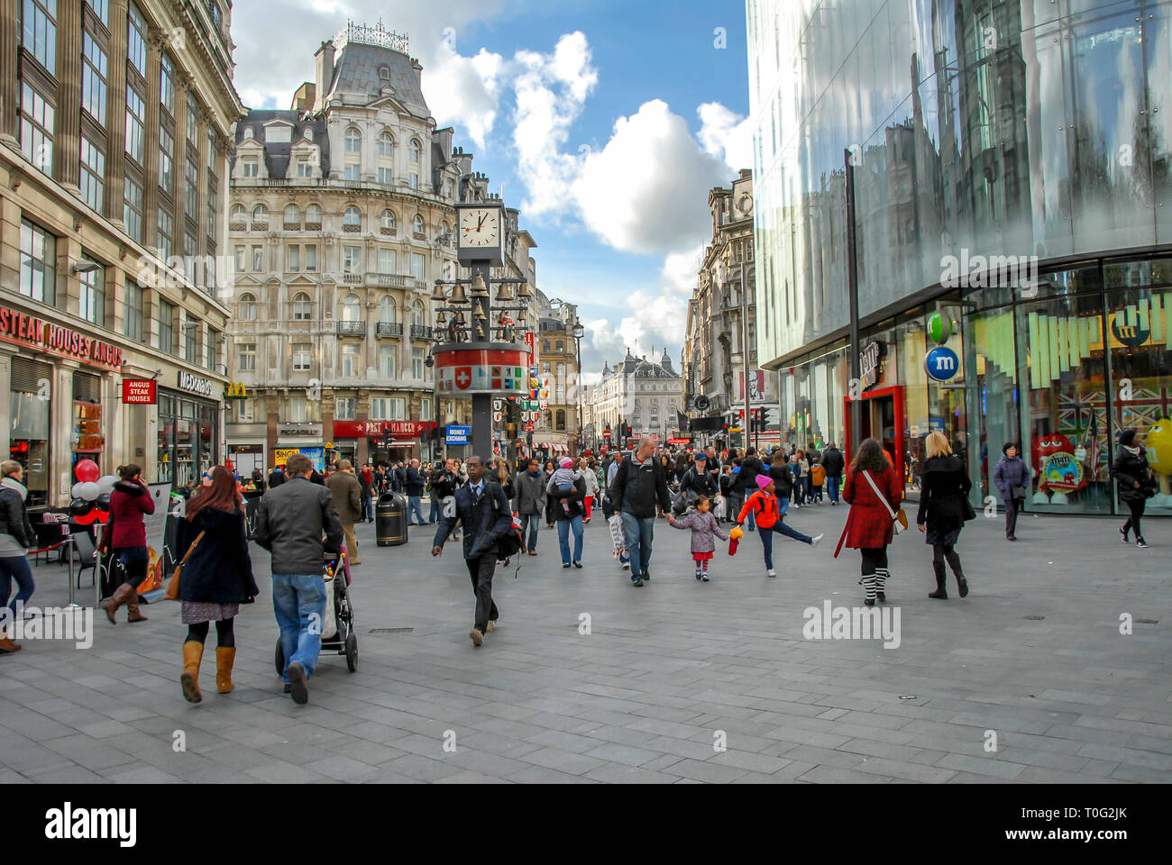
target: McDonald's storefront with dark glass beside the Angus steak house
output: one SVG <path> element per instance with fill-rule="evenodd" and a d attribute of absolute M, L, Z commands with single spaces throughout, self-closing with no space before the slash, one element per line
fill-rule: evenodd
<path fill-rule="evenodd" d="M 191 486 L 217 464 L 220 403 L 212 395 L 222 387 L 212 379 L 180 370 L 176 389 L 158 388 L 157 482 Z"/>

